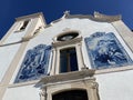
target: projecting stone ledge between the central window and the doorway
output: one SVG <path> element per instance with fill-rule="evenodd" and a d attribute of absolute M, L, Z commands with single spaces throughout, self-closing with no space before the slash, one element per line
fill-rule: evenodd
<path fill-rule="evenodd" d="M 47 84 L 53 82 L 61 82 L 68 80 L 76 80 L 76 79 L 84 79 L 84 78 L 93 78 L 95 70 L 86 69 L 83 71 L 72 71 L 66 73 L 60 73 L 55 76 L 47 76 L 42 78 L 37 84 Z"/>

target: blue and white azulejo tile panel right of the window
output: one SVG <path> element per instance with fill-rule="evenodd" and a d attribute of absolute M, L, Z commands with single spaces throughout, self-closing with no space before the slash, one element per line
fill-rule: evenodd
<path fill-rule="evenodd" d="M 92 68 L 94 69 L 122 67 L 133 63 L 113 32 L 96 32 L 84 40 Z"/>

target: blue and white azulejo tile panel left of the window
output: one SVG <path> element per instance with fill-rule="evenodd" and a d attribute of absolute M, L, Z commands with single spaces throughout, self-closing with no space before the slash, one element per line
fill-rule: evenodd
<path fill-rule="evenodd" d="M 27 51 L 14 82 L 35 80 L 48 74 L 51 46 L 39 44 Z"/>

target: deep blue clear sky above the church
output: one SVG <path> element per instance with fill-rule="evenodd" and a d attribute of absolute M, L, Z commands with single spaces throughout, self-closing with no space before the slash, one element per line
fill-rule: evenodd
<path fill-rule="evenodd" d="M 1 0 L 0 39 L 14 23 L 14 19 L 43 12 L 47 23 L 57 20 L 69 10 L 70 14 L 121 14 L 122 20 L 133 29 L 133 0 Z"/>

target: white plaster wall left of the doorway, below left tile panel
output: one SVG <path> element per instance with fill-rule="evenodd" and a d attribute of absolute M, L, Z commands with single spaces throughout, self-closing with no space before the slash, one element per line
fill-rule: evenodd
<path fill-rule="evenodd" d="M 2 100 L 40 100 L 39 91 L 34 86 L 9 88 Z"/>

